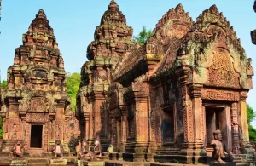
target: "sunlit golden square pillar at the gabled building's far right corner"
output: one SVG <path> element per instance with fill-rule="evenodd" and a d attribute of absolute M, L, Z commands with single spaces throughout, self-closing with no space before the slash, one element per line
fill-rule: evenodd
<path fill-rule="evenodd" d="M 241 149 L 241 153 L 251 154 L 253 153 L 252 145 L 249 142 L 249 129 L 247 123 L 247 91 L 240 93 L 240 114 L 241 114 L 241 133 L 243 142 L 245 144 L 244 149 Z"/>

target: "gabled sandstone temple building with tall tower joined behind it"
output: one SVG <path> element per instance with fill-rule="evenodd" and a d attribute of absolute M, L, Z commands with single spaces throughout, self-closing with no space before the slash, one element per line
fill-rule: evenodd
<path fill-rule="evenodd" d="M 252 60 L 215 5 L 195 22 L 177 5 L 143 45 L 131 35 L 112 1 L 81 70 L 82 138 L 112 145 L 115 159 L 203 163 L 212 155 L 212 131 L 221 129 L 233 154 L 253 153 L 246 103 Z"/>

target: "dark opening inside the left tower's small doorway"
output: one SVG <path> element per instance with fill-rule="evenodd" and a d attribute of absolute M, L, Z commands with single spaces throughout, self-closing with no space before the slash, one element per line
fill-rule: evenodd
<path fill-rule="evenodd" d="M 30 136 L 31 148 L 42 148 L 43 125 L 32 125 Z"/>

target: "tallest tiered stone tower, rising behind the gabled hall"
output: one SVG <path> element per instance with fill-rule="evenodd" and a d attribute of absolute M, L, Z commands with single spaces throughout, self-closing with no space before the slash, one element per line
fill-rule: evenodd
<path fill-rule="evenodd" d="M 131 50 L 133 29 L 126 25 L 125 15 L 113 0 L 96 27 L 94 41 L 87 49 L 89 61 L 81 70 L 81 85 L 77 97 L 77 115 L 81 137 L 92 142 L 95 138 L 108 140 L 106 92 L 113 81 L 116 64 Z M 104 149 L 104 148 L 103 148 Z"/>

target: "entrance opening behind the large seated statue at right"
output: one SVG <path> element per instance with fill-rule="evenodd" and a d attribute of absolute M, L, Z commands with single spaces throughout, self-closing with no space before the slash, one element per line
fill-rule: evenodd
<path fill-rule="evenodd" d="M 231 118 L 230 106 L 206 106 L 205 113 L 205 146 L 212 149 L 211 141 L 214 140 L 212 132 L 220 129 L 223 140 L 231 149 Z"/>

